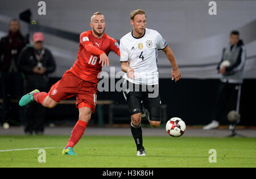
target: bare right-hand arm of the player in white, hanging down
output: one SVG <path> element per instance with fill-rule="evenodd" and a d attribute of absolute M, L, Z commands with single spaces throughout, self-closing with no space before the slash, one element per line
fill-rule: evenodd
<path fill-rule="evenodd" d="M 166 54 L 167 59 L 170 61 L 172 65 L 172 80 L 179 81 L 181 78 L 179 67 L 177 66 L 174 53 L 172 53 L 171 48 L 166 45 L 166 48 L 162 49 L 162 51 Z"/>

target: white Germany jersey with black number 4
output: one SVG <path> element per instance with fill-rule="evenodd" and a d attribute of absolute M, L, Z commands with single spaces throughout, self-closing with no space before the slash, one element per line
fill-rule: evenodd
<path fill-rule="evenodd" d="M 156 85 L 158 84 L 158 49 L 164 49 L 166 40 L 155 30 L 146 28 L 141 38 L 135 38 L 133 32 L 129 32 L 120 40 L 120 61 L 129 62 L 134 70 L 134 78 L 123 76 L 134 84 Z"/>

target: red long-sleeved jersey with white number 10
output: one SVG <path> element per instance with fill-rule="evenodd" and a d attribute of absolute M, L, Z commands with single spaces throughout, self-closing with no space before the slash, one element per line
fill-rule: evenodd
<path fill-rule="evenodd" d="M 99 63 L 100 55 L 106 53 L 108 56 L 110 51 L 120 56 L 119 45 L 115 39 L 105 33 L 101 39 L 97 39 L 93 36 L 92 31 L 82 32 L 77 60 L 71 67 L 71 72 L 82 80 L 97 83 L 98 73 L 102 69 Z"/>

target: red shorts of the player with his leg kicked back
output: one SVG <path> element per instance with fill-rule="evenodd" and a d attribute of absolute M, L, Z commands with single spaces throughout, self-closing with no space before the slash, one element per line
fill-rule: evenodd
<path fill-rule="evenodd" d="M 82 80 L 67 70 L 61 80 L 52 85 L 48 96 L 56 102 L 76 95 L 76 107 L 89 107 L 93 113 L 97 101 L 97 84 Z"/>

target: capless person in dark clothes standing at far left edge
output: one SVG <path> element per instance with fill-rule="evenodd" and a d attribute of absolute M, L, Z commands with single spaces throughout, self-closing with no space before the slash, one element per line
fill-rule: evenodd
<path fill-rule="evenodd" d="M 25 39 L 20 33 L 19 21 L 10 21 L 9 34 L 0 41 L 1 91 L 3 98 L 1 124 L 10 118 L 10 99 L 19 99 L 22 94 L 22 78 L 18 71 L 18 56 L 25 46 Z"/>

